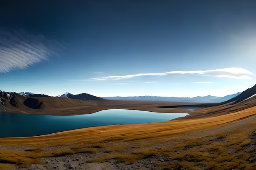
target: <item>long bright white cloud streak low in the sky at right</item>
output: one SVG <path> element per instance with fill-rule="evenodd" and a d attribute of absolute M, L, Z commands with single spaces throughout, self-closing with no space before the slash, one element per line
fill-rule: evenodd
<path fill-rule="evenodd" d="M 182 75 L 182 74 L 200 74 L 203 76 L 213 76 L 213 77 L 228 77 L 234 79 L 252 79 L 249 75 L 254 75 L 254 73 L 237 67 L 222 68 L 216 70 L 205 70 L 205 71 L 169 71 L 166 73 L 138 73 L 132 75 L 119 75 L 119 76 L 108 76 L 108 77 L 96 77 L 92 78 L 94 80 L 120 80 L 120 79 L 130 79 L 133 77 L 141 76 L 164 76 L 164 75 Z"/>

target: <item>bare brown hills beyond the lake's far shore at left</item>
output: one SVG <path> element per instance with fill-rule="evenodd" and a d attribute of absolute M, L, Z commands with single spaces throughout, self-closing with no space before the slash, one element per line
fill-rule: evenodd
<path fill-rule="evenodd" d="M 0 104 L 0 113 L 81 115 L 102 110 L 96 102 L 62 97 L 24 97 L 13 93 L 4 105 Z"/>

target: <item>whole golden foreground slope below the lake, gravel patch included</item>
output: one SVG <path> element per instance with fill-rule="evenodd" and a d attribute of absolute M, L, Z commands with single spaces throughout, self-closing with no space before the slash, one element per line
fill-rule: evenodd
<path fill-rule="evenodd" d="M 237 164 L 232 163 L 250 169 L 252 164 L 247 159 L 254 155 L 249 150 L 256 147 L 251 139 L 256 136 L 255 109 L 202 119 L 100 126 L 37 137 L 0 138 L 0 151 L 2 159 L 7 160 L 9 157 L 5 158 L 5 154 L 18 154 L 11 158 L 16 170 L 62 170 L 72 167 L 86 170 L 180 170 L 177 168 L 198 167 L 198 162 L 205 167 L 223 168 L 226 164 L 219 165 L 218 157 L 225 157 L 225 153 L 232 149 L 228 157 L 230 160 L 236 160 L 237 154 L 244 155 Z M 250 145 L 244 144 L 249 140 Z M 243 148 L 232 147 L 237 143 L 243 144 L 240 145 Z M 216 147 L 218 150 L 211 150 Z M 197 161 L 186 164 L 191 159 L 186 155 L 198 155 Z"/>

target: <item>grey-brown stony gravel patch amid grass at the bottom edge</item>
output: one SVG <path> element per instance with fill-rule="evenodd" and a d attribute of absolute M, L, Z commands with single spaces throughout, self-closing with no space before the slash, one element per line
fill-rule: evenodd
<path fill-rule="evenodd" d="M 32 164 L 31 168 L 17 168 L 21 170 L 167 170 L 154 166 L 154 163 L 165 163 L 169 157 L 149 157 L 141 159 L 136 163 L 119 162 L 111 159 L 110 161 L 98 163 L 87 162 L 94 157 L 93 154 L 74 154 L 61 157 L 49 157 L 44 159 L 43 165 Z M 174 167 L 173 170 L 186 170 L 182 167 Z M 171 170 L 171 169 L 169 169 Z"/>

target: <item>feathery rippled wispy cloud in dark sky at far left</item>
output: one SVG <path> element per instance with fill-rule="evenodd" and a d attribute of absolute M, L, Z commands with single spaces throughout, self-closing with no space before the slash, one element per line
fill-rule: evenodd
<path fill-rule="evenodd" d="M 24 69 L 58 55 L 62 44 L 44 35 L 0 28 L 0 73 Z"/>

